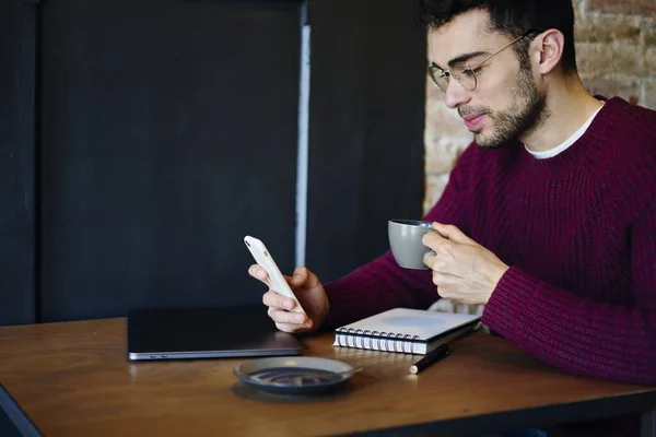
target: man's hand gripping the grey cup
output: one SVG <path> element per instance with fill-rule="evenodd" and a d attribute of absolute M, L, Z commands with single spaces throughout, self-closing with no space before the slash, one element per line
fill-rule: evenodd
<path fill-rule="evenodd" d="M 422 243 L 433 249 L 424 262 L 440 296 L 469 305 L 487 304 L 508 265 L 453 225 L 433 223 Z M 442 234 L 442 236 L 440 234 Z"/>

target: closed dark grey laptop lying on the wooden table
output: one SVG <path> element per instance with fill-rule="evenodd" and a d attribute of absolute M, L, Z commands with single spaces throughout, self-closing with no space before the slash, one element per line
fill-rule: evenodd
<path fill-rule="evenodd" d="M 128 311 L 128 359 L 189 359 L 301 355 L 303 344 L 281 332 L 267 308 L 149 308 Z"/>

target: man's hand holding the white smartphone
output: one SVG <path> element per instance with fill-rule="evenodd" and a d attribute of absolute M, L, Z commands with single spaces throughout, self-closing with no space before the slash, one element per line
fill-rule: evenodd
<path fill-rule="evenodd" d="M 248 274 L 267 284 L 267 271 L 258 264 L 250 265 Z M 309 332 L 317 330 L 328 317 L 330 303 L 324 285 L 316 274 L 305 267 L 297 267 L 293 276 L 284 276 L 290 288 L 301 303 L 303 312 L 291 312 L 296 303 L 294 299 L 279 295 L 269 290 L 262 296 L 262 302 L 269 307 L 268 314 L 276 327 L 284 332 Z"/>

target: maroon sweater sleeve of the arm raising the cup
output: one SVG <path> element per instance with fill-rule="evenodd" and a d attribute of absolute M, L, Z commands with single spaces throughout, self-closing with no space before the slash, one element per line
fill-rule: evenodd
<path fill-rule="evenodd" d="M 511 268 L 483 324 L 566 371 L 656 385 L 656 214 L 630 232 L 633 306 L 594 303 Z"/>

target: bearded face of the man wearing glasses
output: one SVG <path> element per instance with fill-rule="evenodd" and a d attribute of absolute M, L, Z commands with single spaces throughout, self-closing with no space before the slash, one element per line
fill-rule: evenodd
<path fill-rule="evenodd" d="M 462 63 L 476 69 L 512 40 L 489 27 L 488 13 L 475 10 L 432 29 L 433 62 L 443 70 L 456 70 Z M 548 117 L 544 93 L 538 90 L 530 67 L 520 66 L 512 47 L 483 63 L 476 76 L 473 91 L 452 79 L 445 102 L 458 109 L 481 147 L 494 149 L 522 139 Z"/>

